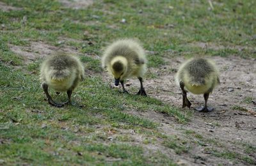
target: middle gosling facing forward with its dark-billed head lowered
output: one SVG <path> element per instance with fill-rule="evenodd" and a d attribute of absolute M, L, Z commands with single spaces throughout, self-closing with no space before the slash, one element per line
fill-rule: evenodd
<path fill-rule="evenodd" d="M 147 72 L 147 58 L 138 41 L 117 40 L 109 45 L 102 56 L 102 68 L 113 75 L 115 86 L 121 83 L 123 93 L 128 93 L 124 87 L 124 80 L 137 77 L 140 80 L 140 91 L 137 94 L 147 96 L 142 83 L 142 77 Z"/>

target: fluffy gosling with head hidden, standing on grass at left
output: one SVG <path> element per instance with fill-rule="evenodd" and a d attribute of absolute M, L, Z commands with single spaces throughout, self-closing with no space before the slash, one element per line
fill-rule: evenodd
<path fill-rule="evenodd" d="M 42 63 L 40 80 L 48 102 L 55 107 L 71 104 L 71 94 L 79 82 L 84 79 L 84 67 L 75 56 L 57 54 L 49 56 Z M 57 92 L 67 91 L 68 101 L 56 103 L 48 93 L 48 87 Z"/>

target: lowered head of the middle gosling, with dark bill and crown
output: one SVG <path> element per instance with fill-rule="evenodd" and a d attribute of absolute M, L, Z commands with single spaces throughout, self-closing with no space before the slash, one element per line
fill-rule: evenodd
<path fill-rule="evenodd" d="M 115 86 L 119 85 L 120 80 L 124 80 L 127 72 L 127 59 L 122 56 L 115 57 L 111 61 L 111 73 L 115 79 Z"/>

